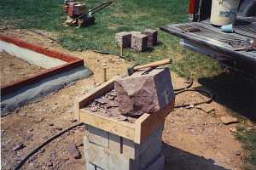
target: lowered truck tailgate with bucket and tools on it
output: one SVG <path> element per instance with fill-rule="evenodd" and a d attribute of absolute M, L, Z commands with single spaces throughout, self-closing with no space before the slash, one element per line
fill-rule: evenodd
<path fill-rule="evenodd" d="M 195 31 L 184 31 L 184 28 L 195 28 Z M 196 29 L 199 31 L 196 31 Z M 256 51 L 236 51 L 237 47 L 230 42 L 252 41 L 256 37 L 256 23 L 245 26 L 235 26 L 234 33 L 224 33 L 218 27 L 212 26 L 209 22 L 191 22 L 185 24 L 175 24 L 160 27 L 160 30 L 166 31 L 177 37 L 181 37 L 193 44 L 203 46 L 214 50 L 231 59 L 250 62 L 256 65 Z"/>

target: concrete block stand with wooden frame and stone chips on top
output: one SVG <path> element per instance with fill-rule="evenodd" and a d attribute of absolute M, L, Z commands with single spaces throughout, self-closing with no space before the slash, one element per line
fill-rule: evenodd
<path fill-rule="evenodd" d="M 114 78 L 77 101 L 76 117 L 85 123 L 84 157 L 87 170 L 162 170 L 161 138 L 166 116 L 173 110 L 175 97 L 152 114 L 128 117 L 102 111 L 114 103 Z M 110 96 L 110 97 L 109 97 Z M 108 101 L 110 99 L 110 101 Z M 101 105 L 99 103 L 107 103 Z M 100 110 L 100 111 L 99 111 Z M 112 113 L 112 114 L 109 114 Z"/>

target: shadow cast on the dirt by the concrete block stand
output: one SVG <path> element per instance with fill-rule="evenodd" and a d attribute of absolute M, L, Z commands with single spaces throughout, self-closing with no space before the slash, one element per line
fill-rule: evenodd
<path fill-rule="evenodd" d="M 225 170 L 218 166 L 212 159 L 196 156 L 184 150 L 172 147 L 169 144 L 162 144 L 162 153 L 165 156 L 165 170 Z"/>

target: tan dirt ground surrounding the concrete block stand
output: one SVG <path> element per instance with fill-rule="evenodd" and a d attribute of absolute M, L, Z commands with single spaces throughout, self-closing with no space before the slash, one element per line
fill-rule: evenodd
<path fill-rule="evenodd" d="M 6 30 L 4 33 L 22 37 L 30 42 L 61 49 L 57 44 L 38 37 L 28 31 Z M 50 35 L 54 37 L 54 35 Z M 102 59 L 108 63 L 108 79 L 125 73 L 131 65 L 113 55 L 96 54 L 90 51 L 69 52 L 85 60 L 94 72 L 90 78 L 75 82 L 43 99 L 20 107 L 1 119 L 2 168 L 12 169 L 26 154 L 45 139 L 76 123 L 73 121 L 74 102 L 90 89 L 102 82 Z M 174 88 L 186 86 L 183 78 L 172 73 Z M 194 88 L 201 87 L 195 82 Z M 205 99 L 194 92 L 177 95 L 177 104 Z M 211 111 L 212 108 L 214 111 Z M 211 111 L 208 112 L 207 111 Z M 201 105 L 201 108 L 176 109 L 167 116 L 163 133 L 165 169 L 242 169 L 244 156 L 241 144 L 234 138 L 230 128 L 236 124 L 224 125 L 220 116 L 228 116 L 224 106 L 216 102 Z M 77 127 L 65 133 L 43 150 L 32 156 L 22 169 L 84 169 L 84 156 L 74 159 L 67 153 L 67 144 L 74 143 L 83 153 L 84 127 Z M 22 150 L 13 151 L 16 145 L 24 144 Z"/>

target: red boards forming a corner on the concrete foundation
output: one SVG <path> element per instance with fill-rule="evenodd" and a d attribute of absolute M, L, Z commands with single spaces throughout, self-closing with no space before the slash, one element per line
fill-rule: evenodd
<path fill-rule="evenodd" d="M 54 68 L 47 69 L 46 71 L 42 71 L 32 77 L 24 78 L 16 82 L 11 82 L 1 87 L 1 96 L 6 94 L 11 94 L 23 86 L 30 85 L 35 82 L 39 82 L 45 77 L 54 76 L 61 72 L 70 71 L 74 68 L 78 68 L 79 66 L 84 65 L 84 59 L 79 59 L 77 57 L 70 56 L 68 54 L 56 51 L 51 48 L 41 47 L 36 44 L 25 42 L 15 37 L 7 37 L 7 36 L 0 35 L 0 40 L 4 42 L 13 43 L 19 46 L 20 48 L 27 48 L 37 53 L 44 54 L 55 59 L 61 59 L 67 62 L 67 64 L 59 65 Z"/>

